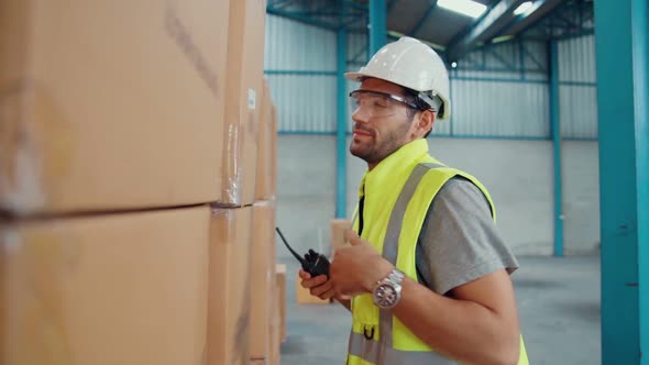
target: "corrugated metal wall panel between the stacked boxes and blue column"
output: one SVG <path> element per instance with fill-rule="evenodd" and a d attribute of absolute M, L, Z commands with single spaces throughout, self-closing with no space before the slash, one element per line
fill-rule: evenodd
<path fill-rule="evenodd" d="M 336 131 L 336 33 L 268 14 L 264 69 L 279 131 Z"/>

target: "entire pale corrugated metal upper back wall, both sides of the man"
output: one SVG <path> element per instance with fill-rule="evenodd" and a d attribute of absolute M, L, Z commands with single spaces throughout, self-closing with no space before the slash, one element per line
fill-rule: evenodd
<path fill-rule="evenodd" d="M 268 15 L 265 70 L 279 131 L 334 133 L 337 35 Z M 564 139 L 597 136 L 594 37 L 559 42 L 560 118 Z M 348 68 L 367 59 L 367 36 L 348 37 Z M 549 139 L 548 54 L 543 42 L 492 45 L 462 58 L 450 71 L 452 118 L 433 135 Z M 348 82 L 348 92 L 358 84 Z M 351 104 L 346 104 L 351 117 Z M 351 118 L 349 130 L 351 131 Z"/>

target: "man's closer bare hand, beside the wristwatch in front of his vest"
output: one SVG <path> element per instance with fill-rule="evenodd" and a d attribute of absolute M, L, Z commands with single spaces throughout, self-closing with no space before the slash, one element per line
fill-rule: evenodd
<path fill-rule="evenodd" d="M 351 247 L 336 251 L 329 266 L 329 281 L 332 281 L 336 294 L 341 297 L 371 292 L 376 281 L 386 277 L 394 265 L 353 230 L 345 232 L 345 239 Z"/>

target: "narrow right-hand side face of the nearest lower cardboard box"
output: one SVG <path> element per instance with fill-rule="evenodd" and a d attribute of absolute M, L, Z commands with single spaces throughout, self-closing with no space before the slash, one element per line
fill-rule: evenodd
<path fill-rule="evenodd" d="M 212 209 L 208 365 L 245 365 L 250 357 L 251 226 L 251 207 Z"/>

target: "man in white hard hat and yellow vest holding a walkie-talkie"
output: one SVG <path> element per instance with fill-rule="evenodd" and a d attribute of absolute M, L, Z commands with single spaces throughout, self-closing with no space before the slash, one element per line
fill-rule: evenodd
<path fill-rule="evenodd" d="M 300 277 L 351 310 L 348 364 L 528 364 L 509 278 L 518 264 L 493 201 L 428 154 L 426 136 L 451 112 L 444 64 L 403 37 L 345 77 L 362 82 L 350 152 L 367 163 L 355 232 L 329 279 Z"/>

